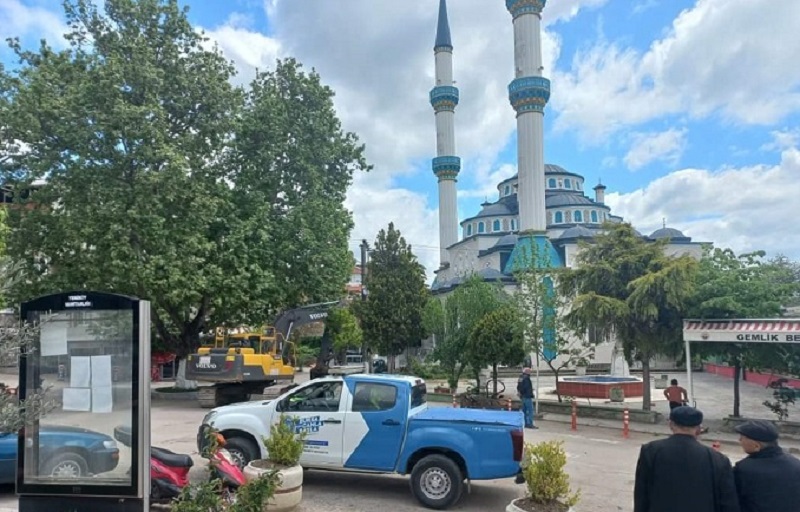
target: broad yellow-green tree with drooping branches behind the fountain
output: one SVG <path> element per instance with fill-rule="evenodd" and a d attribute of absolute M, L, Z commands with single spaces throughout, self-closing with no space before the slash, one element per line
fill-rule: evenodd
<path fill-rule="evenodd" d="M 667 240 L 647 242 L 630 224 L 606 228 L 582 245 L 576 267 L 560 280 L 573 299 L 565 319 L 581 334 L 594 329 L 600 338 L 622 341 L 628 361 L 642 364 L 643 409 L 650 410 L 650 360 L 679 350 L 697 262 L 667 256 Z"/>

